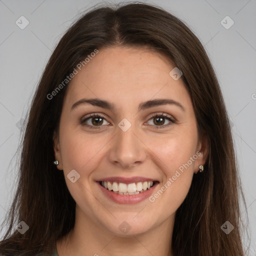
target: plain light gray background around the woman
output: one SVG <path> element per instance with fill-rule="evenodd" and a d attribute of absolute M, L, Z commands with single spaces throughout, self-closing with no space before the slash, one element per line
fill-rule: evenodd
<path fill-rule="evenodd" d="M 102 1 L 0 0 L 0 222 L 16 188 L 17 162 L 14 155 L 20 141 L 19 125 L 42 70 L 71 22 L 98 2 Z M 156 3 L 183 20 L 200 39 L 211 59 L 232 122 L 247 203 L 251 234 L 249 237 L 244 235 L 244 244 L 247 245 L 251 237 L 248 255 L 256 255 L 256 1 L 144 2 Z M 21 15 L 29 21 L 24 29 L 15 23 Z M 226 15 L 234 21 L 228 29 L 221 24 Z M 231 24 L 228 19 L 223 22 Z M 242 205 L 241 212 L 246 221 L 244 210 Z"/>

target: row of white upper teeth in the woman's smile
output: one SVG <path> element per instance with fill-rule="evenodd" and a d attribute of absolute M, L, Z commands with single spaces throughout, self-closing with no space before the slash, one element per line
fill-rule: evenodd
<path fill-rule="evenodd" d="M 130 184 L 125 184 L 121 182 L 120 183 L 113 182 L 111 184 L 110 181 L 101 181 L 101 185 L 108 190 L 131 193 L 131 192 L 146 190 L 150 188 L 153 185 L 153 181 L 144 181 L 144 182 L 137 182 L 137 183 L 130 183 Z"/>

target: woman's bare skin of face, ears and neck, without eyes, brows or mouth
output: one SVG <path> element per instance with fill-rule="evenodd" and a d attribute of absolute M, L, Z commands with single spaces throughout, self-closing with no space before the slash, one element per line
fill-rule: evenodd
<path fill-rule="evenodd" d="M 175 212 L 187 195 L 193 173 L 208 154 L 207 140 L 198 138 L 190 96 L 181 78 L 174 80 L 169 75 L 173 68 L 152 50 L 114 46 L 99 49 L 72 78 L 59 133 L 53 136 L 57 168 L 63 170 L 76 201 L 74 228 L 56 244 L 59 256 L 173 255 L 170 241 Z M 116 108 L 80 104 L 70 110 L 81 98 L 100 98 Z M 174 104 L 138 111 L 139 103 L 156 98 L 178 101 L 185 111 Z M 80 123 L 90 113 L 104 117 L 101 126 L 93 118 L 85 121 L 99 128 Z M 157 117 L 151 116 L 162 113 L 175 123 L 165 118 L 157 125 Z M 123 118 L 131 123 L 125 132 L 118 126 Z M 159 181 L 157 192 L 196 151 L 200 151 L 197 159 L 179 171 L 154 202 L 148 198 L 135 204 L 113 202 L 95 182 L 110 176 L 144 176 Z M 80 175 L 74 183 L 67 178 L 72 169 Z M 127 233 L 118 228 L 123 221 L 131 227 Z"/>

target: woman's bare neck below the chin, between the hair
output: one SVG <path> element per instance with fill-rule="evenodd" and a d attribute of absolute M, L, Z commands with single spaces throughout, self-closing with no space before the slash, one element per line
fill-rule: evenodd
<path fill-rule="evenodd" d="M 79 212 L 79 214 L 78 214 Z M 144 233 L 119 235 L 93 219 L 82 217 L 76 209 L 74 228 L 57 241 L 58 256 L 172 256 L 171 238 L 174 214 Z"/>

